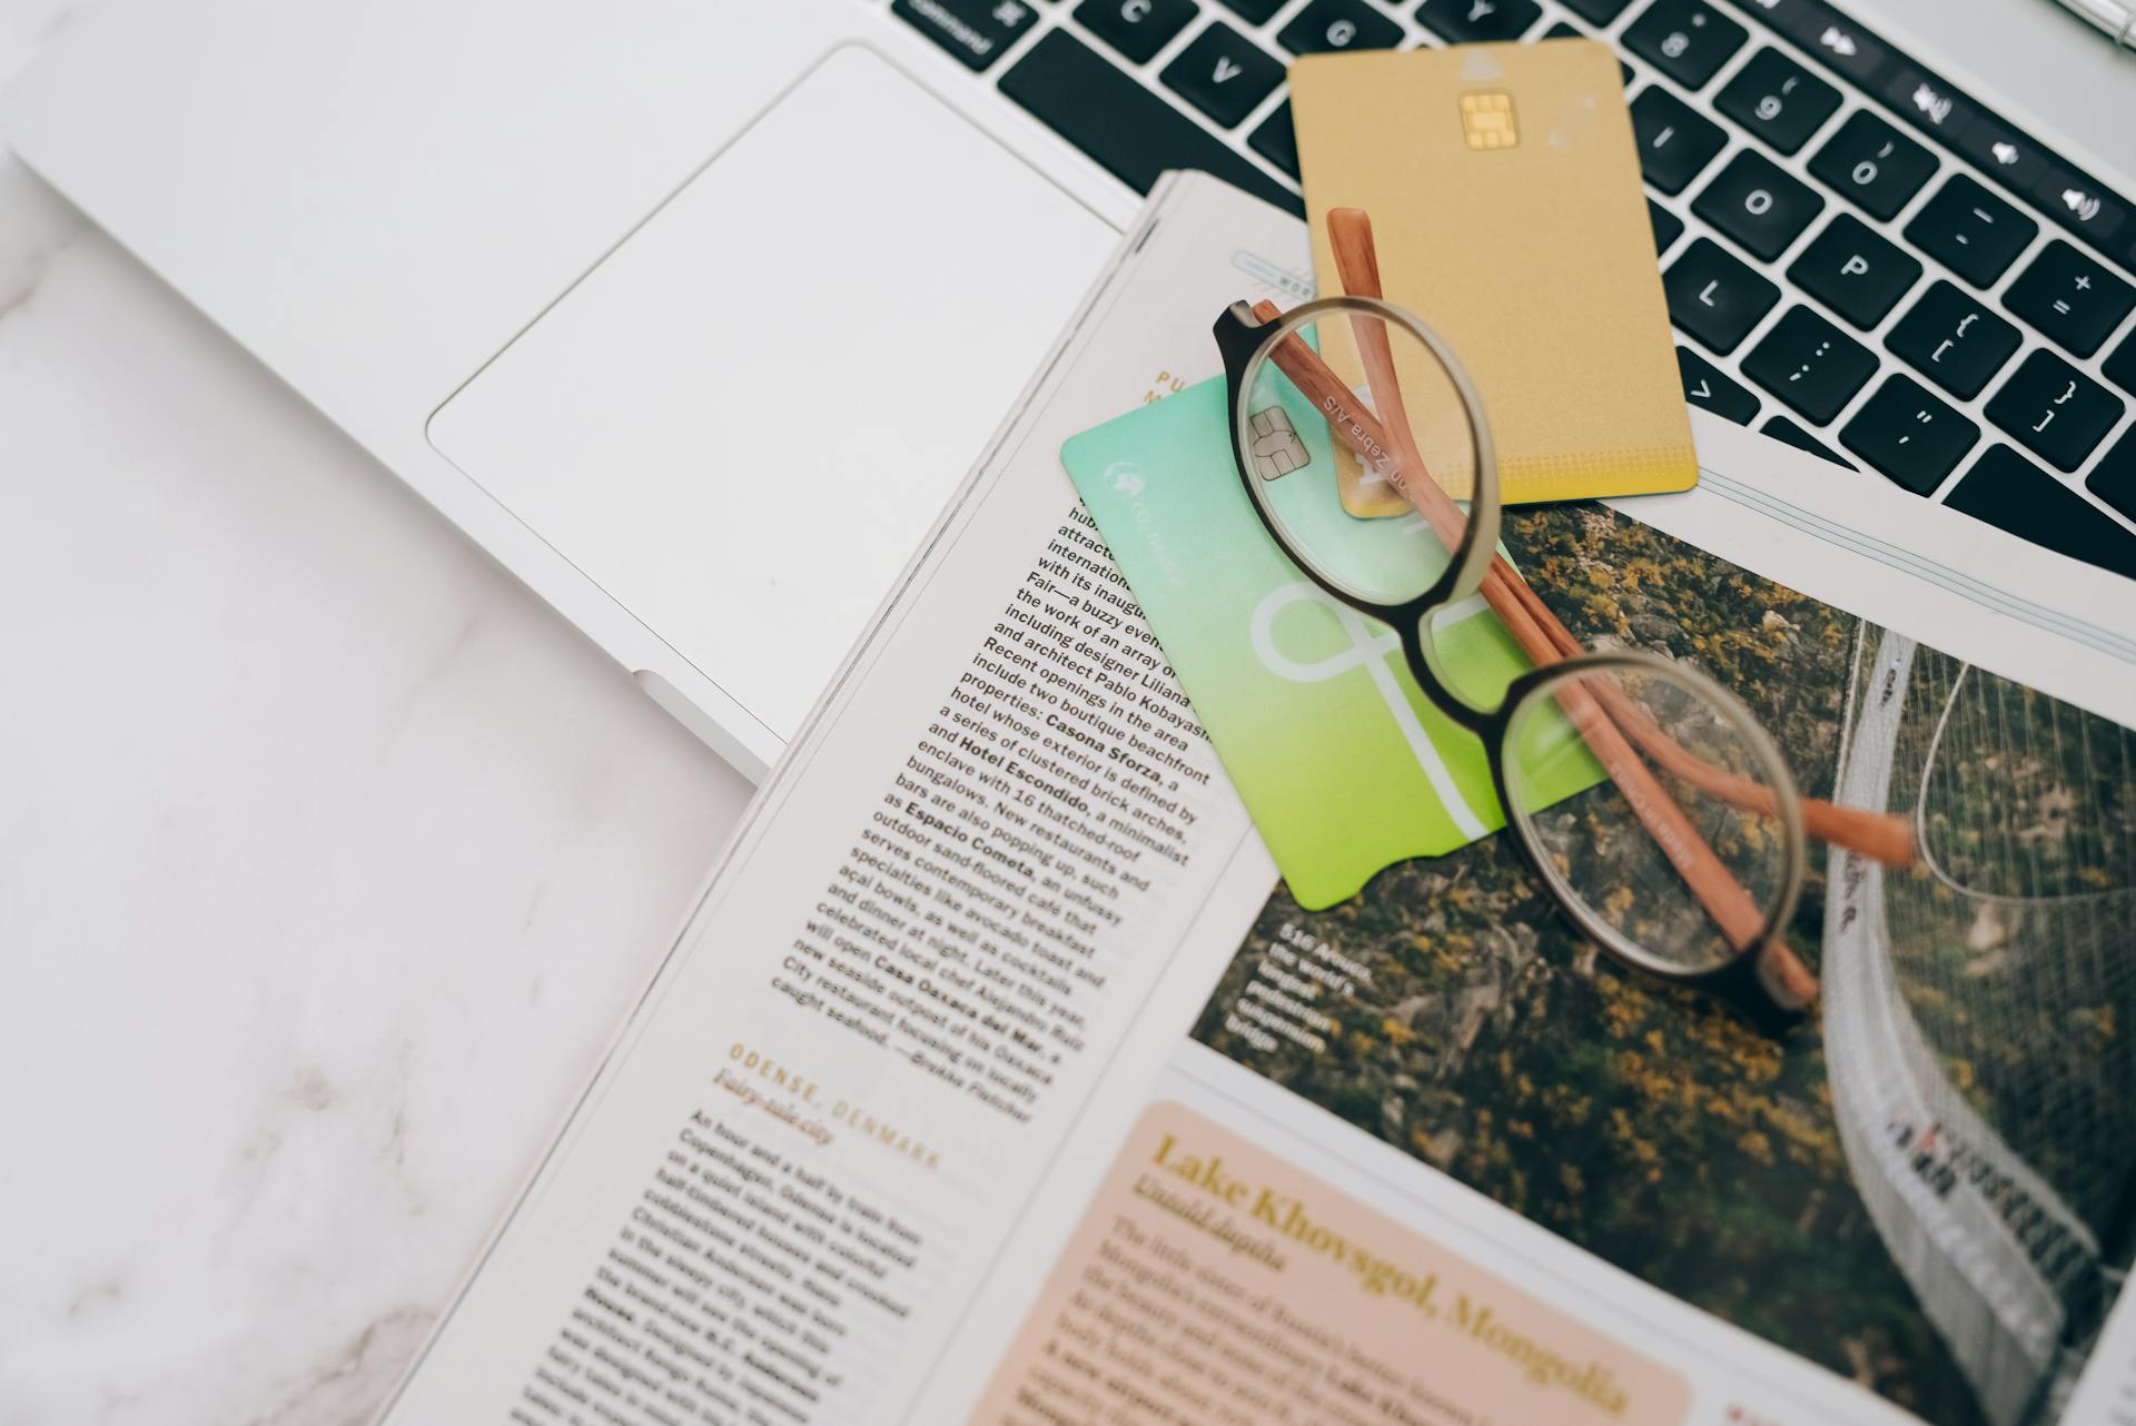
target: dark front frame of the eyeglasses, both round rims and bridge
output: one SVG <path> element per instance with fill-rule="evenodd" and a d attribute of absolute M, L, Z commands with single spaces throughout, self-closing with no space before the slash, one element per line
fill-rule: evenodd
<path fill-rule="evenodd" d="M 1269 517 L 1260 495 L 1254 489 L 1252 461 L 1245 457 L 1245 433 L 1241 416 L 1247 416 L 1245 401 L 1250 391 L 1245 386 L 1245 374 L 1260 352 L 1275 342 L 1282 342 L 1299 327 L 1305 327 L 1331 312 L 1367 312 L 1393 322 L 1399 322 L 1412 335 L 1425 342 L 1433 356 L 1444 367 L 1446 376 L 1452 380 L 1455 391 L 1461 395 L 1463 406 L 1470 414 L 1470 429 L 1476 450 L 1476 491 L 1489 489 L 1485 514 L 1476 514 L 1476 504 L 1470 500 L 1470 521 L 1463 532 L 1463 546 L 1448 561 L 1446 570 L 1431 583 L 1429 589 L 1401 604 L 1382 604 L 1369 600 L 1352 589 L 1346 589 L 1331 579 L 1326 579 L 1309 559 L 1301 559 L 1299 551 L 1284 538 L 1284 532 Z M 1508 685 L 1504 696 L 1493 709 L 1476 709 L 1461 700 L 1446 685 L 1444 675 L 1433 666 L 1431 653 L 1423 643 L 1425 619 L 1440 608 L 1455 604 L 1482 587 L 1482 579 L 1491 568 L 1491 557 L 1497 553 L 1497 529 L 1504 502 L 1497 491 L 1497 465 L 1495 448 L 1491 444 L 1489 421 L 1482 410 L 1482 397 L 1478 395 L 1467 369 L 1452 354 L 1446 342 L 1418 316 L 1397 307 L 1395 303 L 1380 301 L 1373 297 L 1320 297 L 1309 303 L 1290 307 L 1282 318 L 1273 322 L 1260 322 L 1254 318 L 1252 307 L 1243 301 L 1230 303 L 1218 316 L 1215 327 L 1218 352 L 1224 359 L 1224 382 L 1226 382 L 1226 425 L 1230 427 L 1230 455 L 1232 470 L 1239 474 L 1239 482 L 1245 489 L 1245 500 L 1254 508 L 1254 517 L 1260 527 L 1275 540 L 1275 546 L 1284 553 L 1290 564 L 1305 574 L 1320 591 L 1329 598 L 1339 600 L 1348 608 L 1376 619 L 1395 632 L 1401 645 L 1403 662 L 1410 666 L 1410 679 L 1416 683 L 1418 692 L 1425 694 L 1431 704 L 1452 719 L 1457 726 L 1476 736 L 1485 747 L 1485 758 L 1491 771 L 1491 788 L 1497 794 L 1499 809 L 1506 813 L 1508 828 L 1514 830 L 1514 845 L 1521 850 L 1523 860 L 1542 877 L 1544 886 L 1551 888 L 1553 899 L 1559 909 L 1572 918 L 1572 922 L 1587 935 L 1591 935 L 1602 948 L 1625 965 L 1649 973 L 1658 980 L 1685 986 L 1692 991 L 1702 991 L 1717 995 L 1741 1010 L 1745 1010 L 1754 1020 L 1766 1029 L 1784 1029 L 1799 1023 L 1805 1010 L 1786 1005 L 1773 988 L 1764 982 L 1760 965 L 1766 950 L 1779 939 L 1786 924 L 1794 918 L 1801 903 L 1803 886 L 1809 877 L 1809 837 L 1803 828 L 1803 809 L 1799 790 L 1794 783 L 1794 771 L 1788 766 L 1786 756 L 1773 741 L 1771 730 L 1764 722 L 1752 713 L 1741 698 L 1730 694 L 1726 687 L 1715 683 L 1707 672 L 1692 668 L 1690 664 L 1679 664 L 1675 660 L 1660 657 L 1658 653 L 1647 653 L 1643 649 L 1619 649 L 1611 653 L 1589 651 L 1574 657 L 1557 660 L 1553 664 L 1536 664 L 1527 672 L 1517 675 Z M 1487 468 L 1489 463 L 1489 468 Z M 1429 478 L 1429 474 L 1425 476 Z M 1489 529 L 1489 542 L 1478 540 L 1478 532 Z M 1463 576 L 1474 568 L 1474 581 L 1463 587 Z M 1756 939 L 1745 948 L 1737 950 L 1732 956 L 1719 965 L 1685 971 L 1672 969 L 1660 963 L 1651 952 L 1638 946 L 1638 941 L 1625 937 L 1621 931 L 1611 926 L 1606 920 L 1596 916 L 1585 907 L 1585 899 L 1570 888 L 1570 884 L 1557 873 L 1542 847 L 1534 845 L 1532 833 L 1527 830 L 1527 818 L 1512 811 L 1514 803 L 1510 788 L 1506 783 L 1506 741 L 1512 728 L 1512 717 L 1519 713 L 1523 702 L 1540 687 L 1583 672 L 1606 672 L 1611 668 L 1638 668 L 1653 672 L 1668 681 L 1685 683 L 1692 692 L 1709 698 L 1719 707 L 1730 724 L 1734 724 L 1739 734 L 1749 739 L 1752 751 L 1775 771 L 1777 783 L 1771 788 L 1775 809 L 1786 833 L 1788 843 L 1788 871 L 1781 880 L 1779 894 L 1773 899 L 1773 909 L 1766 914 L 1764 926 L 1760 926 Z"/>

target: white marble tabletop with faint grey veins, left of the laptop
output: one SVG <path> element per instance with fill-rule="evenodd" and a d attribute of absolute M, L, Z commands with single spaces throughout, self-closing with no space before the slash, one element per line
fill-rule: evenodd
<path fill-rule="evenodd" d="M 0 491 L 0 1426 L 363 1422 L 750 790 L 13 158 Z"/>

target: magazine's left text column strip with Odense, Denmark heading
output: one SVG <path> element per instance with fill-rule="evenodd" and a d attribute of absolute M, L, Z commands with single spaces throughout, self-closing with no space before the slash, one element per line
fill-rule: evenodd
<path fill-rule="evenodd" d="M 1297 301 L 1297 239 L 1158 190 L 387 1422 L 895 1420 L 1247 835 L 1059 442 Z"/>

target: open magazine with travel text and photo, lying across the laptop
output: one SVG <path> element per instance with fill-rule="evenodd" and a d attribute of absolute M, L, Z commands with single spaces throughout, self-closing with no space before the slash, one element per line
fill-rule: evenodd
<path fill-rule="evenodd" d="M 1057 453 L 1307 295 L 1160 184 L 389 1426 L 2136 1420 L 2127 587 L 1700 423 L 1506 544 L 1916 818 L 1803 899 L 1820 1020 L 1617 973 L 1504 837 L 1305 912 Z"/>

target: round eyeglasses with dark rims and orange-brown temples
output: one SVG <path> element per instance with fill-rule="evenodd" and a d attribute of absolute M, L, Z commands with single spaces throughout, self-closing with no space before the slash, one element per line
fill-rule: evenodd
<path fill-rule="evenodd" d="M 1818 980 L 1784 931 L 1805 835 L 1905 865 L 1912 826 L 1803 798 L 1713 679 L 1587 651 L 1559 623 L 1497 553 L 1474 382 L 1438 333 L 1380 301 L 1365 213 L 1337 209 L 1329 228 L 1348 295 L 1288 314 L 1232 303 L 1215 322 L 1232 455 L 1262 525 L 1326 596 L 1386 623 L 1423 694 L 1482 741 L 1517 845 L 1585 935 L 1762 1025 L 1801 1018 Z M 1391 493 L 1410 512 L 1363 514 Z"/>

